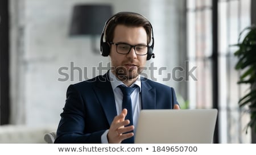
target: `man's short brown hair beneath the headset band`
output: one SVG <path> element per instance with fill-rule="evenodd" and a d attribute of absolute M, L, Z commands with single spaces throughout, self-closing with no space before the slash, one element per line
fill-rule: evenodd
<path fill-rule="evenodd" d="M 117 15 L 114 15 L 109 22 L 106 24 L 105 28 L 105 40 L 106 42 L 112 42 L 114 39 L 114 30 L 118 24 L 123 24 L 125 26 L 134 26 L 134 27 L 144 27 L 147 33 L 147 44 L 150 44 L 151 41 L 151 24 L 144 18 L 144 16 L 133 13 L 133 12 L 123 12 Z"/>

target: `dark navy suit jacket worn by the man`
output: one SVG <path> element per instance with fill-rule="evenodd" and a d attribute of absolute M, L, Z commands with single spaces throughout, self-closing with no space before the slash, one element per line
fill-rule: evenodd
<path fill-rule="evenodd" d="M 172 87 L 141 78 L 142 109 L 172 109 L 178 104 Z M 101 143 L 117 111 L 108 73 L 70 85 L 60 114 L 55 143 Z"/>

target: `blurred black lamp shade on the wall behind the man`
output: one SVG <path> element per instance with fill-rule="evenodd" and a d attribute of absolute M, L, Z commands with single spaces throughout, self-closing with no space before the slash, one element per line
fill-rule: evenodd
<path fill-rule="evenodd" d="M 110 16 L 110 5 L 76 5 L 73 7 L 69 35 L 100 35 Z"/>

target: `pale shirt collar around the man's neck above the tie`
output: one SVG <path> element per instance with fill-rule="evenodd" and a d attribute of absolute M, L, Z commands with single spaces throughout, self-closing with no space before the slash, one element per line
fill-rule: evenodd
<path fill-rule="evenodd" d="M 115 77 L 115 75 L 111 72 L 111 70 L 109 70 L 109 81 L 112 85 L 113 90 L 119 85 L 125 85 L 122 81 L 120 81 L 117 77 Z M 131 85 L 131 87 L 134 85 L 137 85 L 139 87 L 139 92 L 141 92 L 141 76 L 140 75 L 137 78 L 137 80 Z"/>

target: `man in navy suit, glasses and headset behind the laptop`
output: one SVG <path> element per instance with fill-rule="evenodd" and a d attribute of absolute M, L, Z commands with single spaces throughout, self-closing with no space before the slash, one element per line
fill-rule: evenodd
<path fill-rule="evenodd" d="M 101 36 L 102 56 L 110 57 L 111 69 L 68 87 L 55 143 L 134 143 L 139 111 L 179 109 L 172 87 L 140 76 L 154 57 L 153 47 L 152 26 L 144 16 L 112 16 Z M 125 89 L 133 91 L 126 95 Z"/>

